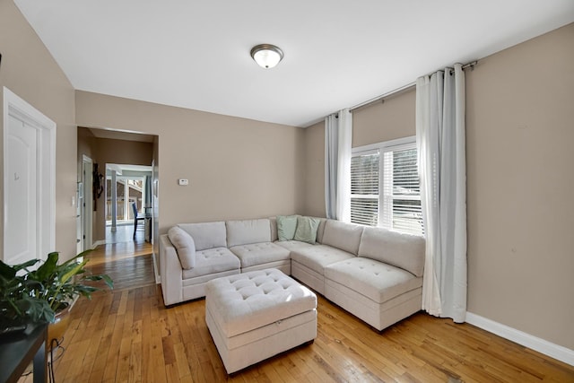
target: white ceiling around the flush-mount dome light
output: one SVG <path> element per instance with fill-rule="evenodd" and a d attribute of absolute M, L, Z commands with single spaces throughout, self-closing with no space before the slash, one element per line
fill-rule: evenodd
<path fill-rule="evenodd" d="M 14 2 L 75 89 L 291 126 L 574 22 L 573 0 Z"/>

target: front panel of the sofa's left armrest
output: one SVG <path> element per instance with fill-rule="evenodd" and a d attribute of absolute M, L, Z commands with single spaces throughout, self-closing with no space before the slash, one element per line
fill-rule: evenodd
<path fill-rule="evenodd" d="M 166 306 L 183 301 L 183 269 L 178 253 L 167 234 L 160 236 L 160 279 Z"/>

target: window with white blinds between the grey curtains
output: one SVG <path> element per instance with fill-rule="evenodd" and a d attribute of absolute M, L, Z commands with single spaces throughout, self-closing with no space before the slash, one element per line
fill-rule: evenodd
<path fill-rule="evenodd" d="M 351 222 L 424 233 L 414 137 L 353 149 Z"/>

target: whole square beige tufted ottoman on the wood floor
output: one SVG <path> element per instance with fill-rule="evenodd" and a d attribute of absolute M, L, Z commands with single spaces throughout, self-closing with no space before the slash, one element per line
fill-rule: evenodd
<path fill-rule="evenodd" d="M 276 269 L 205 285 L 205 322 L 228 374 L 317 337 L 317 297 Z"/>

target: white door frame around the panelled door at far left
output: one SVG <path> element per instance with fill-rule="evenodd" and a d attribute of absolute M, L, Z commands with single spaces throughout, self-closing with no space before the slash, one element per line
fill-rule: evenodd
<path fill-rule="evenodd" d="M 48 253 L 56 248 L 56 123 L 32 107 L 28 102 L 20 98 L 5 86 L 4 93 L 4 129 L 3 129 L 3 160 L 4 160 L 4 191 L 8 184 L 9 170 L 5 158 L 7 147 L 7 135 L 9 133 L 9 118 L 18 118 L 25 124 L 38 131 L 38 161 L 36 164 L 38 174 L 38 204 L 37 204 L 37 257 L 46 259 Z M 4 193 L 4 212 L 10 204 Z M 3 217 L 4 239 L 10 235 L 9 222 Z M 5 241 L 3 240 L 3 255 L 6 259 Z"/>

